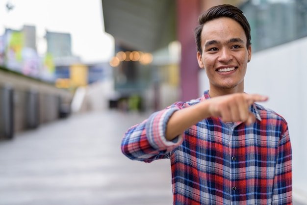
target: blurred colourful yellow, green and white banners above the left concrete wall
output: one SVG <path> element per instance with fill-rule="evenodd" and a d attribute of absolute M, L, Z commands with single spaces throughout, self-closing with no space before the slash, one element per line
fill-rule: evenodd
<path fill-rule="evenodd" d="M 0 65 L 23 75 L 53 83 L 53 56 L 50 53 L 40 56 L 35 45 L 35 29 L 25 30 L 25 26 L 22 30 L 5 29 L 4 35 L 0 36 Z"/>

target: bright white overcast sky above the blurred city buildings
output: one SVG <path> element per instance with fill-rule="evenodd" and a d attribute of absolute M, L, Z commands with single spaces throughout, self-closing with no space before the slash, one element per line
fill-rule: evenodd
<path fill-rule="evenodd" d="M 6 3 L 14 5 L 7 11 Z M 104 32 L 101 0 L 0 0 L 0 35 L 4 28 L 36 26 L 37 50 L 46 51 L 46 29 L 69 32 L 72 52 L 84 62 L 108 61 L 114 53 L 113 37 Z"/>

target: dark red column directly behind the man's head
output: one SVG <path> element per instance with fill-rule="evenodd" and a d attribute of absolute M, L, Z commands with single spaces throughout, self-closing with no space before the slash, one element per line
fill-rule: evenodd
<path fill-rule="evenodd" d="M 201 0 L 177 0 L 178 39 L 181 43 L 180 85 L 181 101 L 199 97 L 196 43 L 194 29 L 201 13 Z"/>

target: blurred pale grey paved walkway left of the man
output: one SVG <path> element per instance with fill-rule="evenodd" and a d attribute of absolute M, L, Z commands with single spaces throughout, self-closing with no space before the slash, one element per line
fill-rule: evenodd
<path fill-rule="evenodd" d="M 171 205 L 170 161 L 132 161 L 120 150 L 146 117 L 78 114 L 0 142 L 0 205 Z"/>

